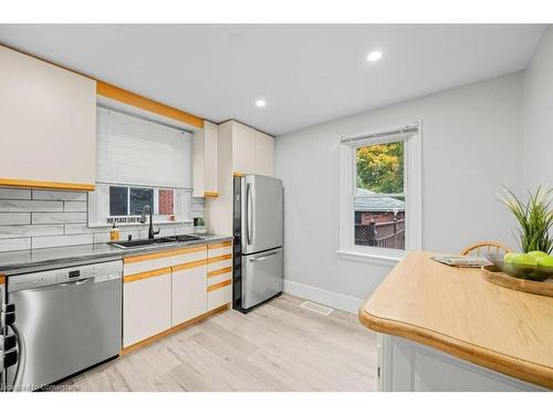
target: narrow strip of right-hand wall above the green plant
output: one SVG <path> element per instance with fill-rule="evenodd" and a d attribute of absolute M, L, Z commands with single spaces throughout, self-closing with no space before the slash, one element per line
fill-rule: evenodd
<path fill-rule="evenodd" d="M 553 28 L 524 71 L 524 186 L 553 186 Z"/>

